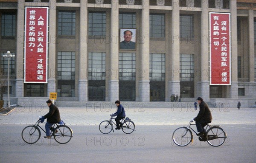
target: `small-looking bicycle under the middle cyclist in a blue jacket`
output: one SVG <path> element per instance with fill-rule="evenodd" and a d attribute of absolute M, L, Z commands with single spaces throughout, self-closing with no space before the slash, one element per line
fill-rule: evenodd
<path fill-rule="evenodd" d="M 108 134 L 110 133 L 111 131 L 114 132 L 113 130 L 113 124 L 116 126 L 115 122 L 112 121 L 113 118 L 113 115 L 110 115 L 111 118 L 108 120 L 108 121 L 102 121 L 100 124 L 99 124 L 99 131 L 102 133 L 102 134 Z M 132 132 L 135 131 L 135 124 L 133 121 L 131 121 L 130 118 L 126 117 L 126 118 L 122 118 L 122 121 L 121 121 L 121 125 L 120 125 L 120 128 L 122 129 L 123 132 L 125 132 L 125 134 L 131 134 Z"/>

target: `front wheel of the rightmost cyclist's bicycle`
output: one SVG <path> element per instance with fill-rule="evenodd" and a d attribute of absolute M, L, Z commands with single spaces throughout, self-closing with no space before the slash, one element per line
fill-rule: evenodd
<path fill-rule="evenodd" d="M 192 132 L 186 127 L 177 128 L 172 134 L 172 140 L 178 146 L 186 146 L 192 141 Z"/>

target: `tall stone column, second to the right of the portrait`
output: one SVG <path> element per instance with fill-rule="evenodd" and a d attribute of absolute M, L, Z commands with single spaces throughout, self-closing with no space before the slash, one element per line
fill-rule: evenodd
<path fill-rule="evenodd" d="M 172 1 L 172 29 L 169 36 L 169 77 L 168 77 L 168 98 L 172 94 L 180 95 L 180 10 L 179 1 Z"/>

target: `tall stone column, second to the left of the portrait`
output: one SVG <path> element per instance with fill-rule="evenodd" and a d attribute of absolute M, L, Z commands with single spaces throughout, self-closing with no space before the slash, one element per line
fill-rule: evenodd
<path fill-rule="evenodd" d="M 80 1 L 80 27 L 79 27 L 79 101 L 88 101 L 87 80 L 87 0 Z"/>

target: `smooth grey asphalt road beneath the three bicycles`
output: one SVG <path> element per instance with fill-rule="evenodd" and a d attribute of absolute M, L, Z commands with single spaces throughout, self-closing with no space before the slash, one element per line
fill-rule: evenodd
<path fill-rule="evenodd" d="M 137 125 L 130 135 L 122 131 L 104 135 L 97 125 L 70 125 L 74 133 L 69 143 L 41 138 L 31 145 L 21 138 L 25 126 L 0 126 L 0 163 L 256 162 L 256 124 L 222 125 L 228 138 L 219 147 L 198 138 L 185 147 L 175 145 L 172 132 L 183 125 Z"/>

